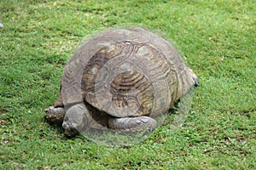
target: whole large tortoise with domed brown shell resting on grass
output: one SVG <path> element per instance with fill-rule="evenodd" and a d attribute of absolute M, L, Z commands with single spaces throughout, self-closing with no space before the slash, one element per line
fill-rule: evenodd
<path fill-rule="evenodd" d="M 143 28 L 105 31 L 84 42 L 67 62 L 49 122 L 73 137 L 86 129 L 124 133 L 154 130 L 198 84 L 171 43 Z"/>

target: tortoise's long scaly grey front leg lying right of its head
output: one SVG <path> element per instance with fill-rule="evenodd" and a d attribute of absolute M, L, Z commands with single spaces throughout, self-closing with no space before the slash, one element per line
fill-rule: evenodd
<path fill-rule="evenodd" d="M 124 133 L 138 133 L 154 130 L 157 122 L 148 116 L 112 118 L 108 120 L 108 127 Z"/>

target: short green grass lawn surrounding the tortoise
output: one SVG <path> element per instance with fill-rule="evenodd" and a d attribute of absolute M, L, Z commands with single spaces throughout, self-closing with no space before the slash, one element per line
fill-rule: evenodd
<path fill-rule="evenodd" d="M 253 0 L 0 2 L 0 169 L 255 169 Z M 177 42 L 200 78 L 176 133 L 168 119 L 129 147 L 67 139 L 44 122 L 84 37 L 143 25 Z"/>

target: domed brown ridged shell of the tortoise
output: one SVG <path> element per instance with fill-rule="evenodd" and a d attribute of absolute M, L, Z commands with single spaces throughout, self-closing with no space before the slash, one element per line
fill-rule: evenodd
<path fill-rule="evenodd" d="M 175 48 L 142 28 L 104 32 L 67 63 L 55 105 L 84 101 L 111 116 L 158 116 L 197 77 Z M 63 102 L 63 104 L 62 104 Z"/>

